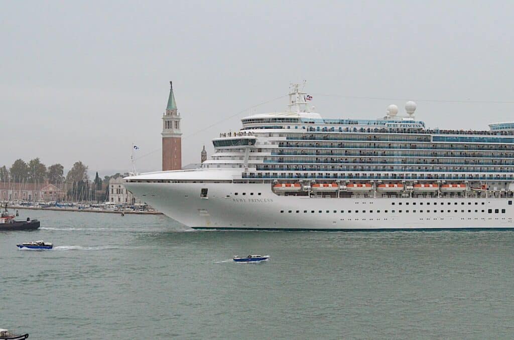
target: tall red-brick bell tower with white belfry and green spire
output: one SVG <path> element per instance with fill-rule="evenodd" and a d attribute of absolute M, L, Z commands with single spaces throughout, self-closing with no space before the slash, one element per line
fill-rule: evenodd
<path fill-rule="evenodd" d="M 170 97 L 166 111 L 162 115 L 162 171 L 182 168 L 182 134 L 180 133 L 180 114 L 170 82 Z"/>

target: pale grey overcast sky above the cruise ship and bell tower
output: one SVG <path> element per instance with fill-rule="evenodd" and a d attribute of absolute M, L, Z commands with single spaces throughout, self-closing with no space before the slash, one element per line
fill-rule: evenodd
<path fill-rule="evenodd" d="M 327 118 L 377 118 L 418 99 L 428 127 L 487 129 L 514 120 L 512 103 L 470 102 L 514 101 L 512 13 L 511 1 L 1 0 L 0 165 L 128 171 L 132 143 L 136 157 L 160 148 L 170 80 L 183 165 L 287 100 L 206 127 L 302 80 Z M 136 165 L 159 170 L 160 150 Z"/>

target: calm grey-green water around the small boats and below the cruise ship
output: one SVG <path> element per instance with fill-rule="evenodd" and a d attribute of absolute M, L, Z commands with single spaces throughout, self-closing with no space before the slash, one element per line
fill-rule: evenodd
<path fill-rule="evenodd" d="M 206 232 L 164 216 L 20 211 L 0 328 L 32 339 L 512 338 L 512 232 Z M 52 251 L 20 251 L 43 239 Z M 260 264 L 234 254 L 262 253 Z"/>

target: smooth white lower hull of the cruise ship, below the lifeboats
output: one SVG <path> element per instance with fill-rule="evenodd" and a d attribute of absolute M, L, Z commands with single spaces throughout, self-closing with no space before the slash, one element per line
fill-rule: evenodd
<path fill-rule="evenodd" d="M 279 196 L 271 191 L 269 184 L 251 183 L 126 183 L 126 186 L 163 214 L 193 229 L 514 228 L 514 205 L 509 204 L 512 198 L 309 198 Z M 208 198 L 200 198 L 201 188 L 208 188 Z"/>

